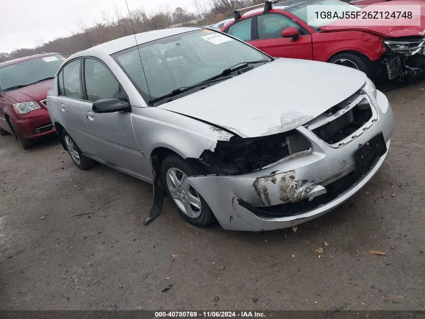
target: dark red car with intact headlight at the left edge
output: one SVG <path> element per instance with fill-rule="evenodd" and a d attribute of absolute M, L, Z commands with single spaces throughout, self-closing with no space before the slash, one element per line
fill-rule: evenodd
<path fill-rule="evenodd" d="M 65 57 L 42 53 L 0 63 L 0 135 L 14 134 L 24 149 L 55 133 L 46 96 Z"/>

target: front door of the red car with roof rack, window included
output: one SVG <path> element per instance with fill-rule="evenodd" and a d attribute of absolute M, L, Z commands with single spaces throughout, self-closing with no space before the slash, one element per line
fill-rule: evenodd
<path fill-rule="evenodd" d="M 313 59 L 311 34 L 293 19 L 280 13 L 267 13 L 256 17 L 254 35 L 251 44 L 275 57 L 291 57 L 306 60 Z M 297 38 L 283 38 L 282 31 L 294 27 Z"/>

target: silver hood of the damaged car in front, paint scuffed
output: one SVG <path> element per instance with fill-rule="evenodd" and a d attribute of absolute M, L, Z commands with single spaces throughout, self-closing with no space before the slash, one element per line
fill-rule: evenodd
<path fill-rule="evenodd" d="M 240 137 L 290 131 L 353 95 L 363 72 L 331 63 L 279 58 L 159 108 Z"/>

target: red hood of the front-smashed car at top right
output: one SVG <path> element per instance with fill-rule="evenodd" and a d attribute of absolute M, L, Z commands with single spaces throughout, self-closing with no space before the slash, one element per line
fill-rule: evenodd
<path fill-rule="evenodd" d="M 371 6 L 367 6 L 362 11 L 376 11 L 378 6 L 420 6 L 420 26 L 353 26 L 353 25 L 341 25 L 341 20 L 338 22 L 332 22 L 320 29 L 325 32 L 333 31 L 347 31 L 347 30 L 359 30 L 373 32 L 385 37 L 403 37 L 409 35 L 421 35 L 425 36 L 425 2 L 423 1 L 389 1 L 377 3 Z M 376 20 L 375 20 L 376 21 Z M 337 25 L 335 25 L 337 24 Z M 375 22 L 375 24 L 378 24 Z"/>

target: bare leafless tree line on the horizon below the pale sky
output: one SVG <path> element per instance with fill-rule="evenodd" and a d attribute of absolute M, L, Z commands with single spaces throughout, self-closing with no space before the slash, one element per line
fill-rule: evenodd
<path fill-rule="evenodd" d="M 38 39 L 35 40 L 34 48 L 20 48 L 10 53 L 0 53 L 0 62 L 41 52 L 70 55 L 133 34 L 133 27 L 136 33 L 140 33 L 175 26 L 208 25 L 231 16 L 236 9 L 262 2 L 263 0 L 193 0 L 196 12 L 189 12 L 182 7 L 172 10 L 169 5 L 165 5 L 152 12 L 145 12 L 140 8 L 123 13 L 115 7 L 112 11 L 101 11 L 100 17 L 95 19 L 92 25 L 78 19 L 77 30 L 70 36 L 55 38 L 48 42 Z"/>

